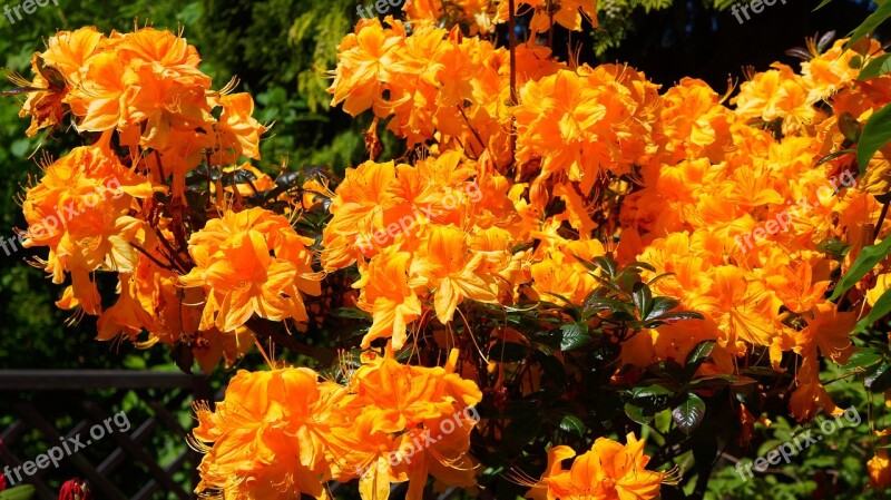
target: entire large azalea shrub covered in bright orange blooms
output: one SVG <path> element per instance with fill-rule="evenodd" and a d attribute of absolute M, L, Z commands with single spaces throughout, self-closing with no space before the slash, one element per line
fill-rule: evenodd
<path fill-rule="evenodd" d="M 374 118 L 342 179 L 242 164 L 268 126 L 175 33 L 59 32 L 14 79 L 29 135 L 70 124 L 85 144 L 23 197 L 58 305 L 187 371 L 254 347 L 270 364 L 196 404 L 198 493 L 326 498 L 358 479 L 364 499 L 405 482 L 420 499 L 432 478 L 649 500 L 689 480 L 686 454 L 707 479 L 757 421 L 840 415 L 821 366 L 891 389 L 872 326 L 891 308 L 889 146 L 852 149 L 891 101 L 868 72 L 880 45 L 811 40 L 800 68 L 731 98 L 506 43 L 517 16 L 535 33 L 596 22 L 593 1 L 513 3 L 359 21 L 329 91 Z M 384 128 L 405 151 L 378 161 Z M 869 467 L 887 486 L 883 450 Z"/>

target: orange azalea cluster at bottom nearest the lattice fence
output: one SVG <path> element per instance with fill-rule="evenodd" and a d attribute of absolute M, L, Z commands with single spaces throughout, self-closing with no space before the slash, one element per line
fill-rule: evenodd
<path fill-rule="evenodd" d="M 196 404 L 192 444 L 205 457 L 195 492 L 227 500 L 326 498 L 346 390 L 309 369 L 239 371 L 216 410 Z M 209 443 L 209 444 L 205 444 Z"/>

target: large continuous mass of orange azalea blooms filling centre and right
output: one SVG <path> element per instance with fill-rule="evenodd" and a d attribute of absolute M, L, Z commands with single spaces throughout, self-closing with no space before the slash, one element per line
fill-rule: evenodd
<path fill-rule="evenodd" d="M 670 273 L 654 292 L 705 316 L 645 329 L 623 343 L 624 364 L 683 361 L 715 341 L 701 374 L 732 374 L 762 350 L 774 370 L 794 373 L 790 408 L 800 421 L 841 413 L 817 376 L 820 360 L 846 360 L 859 313 L 840 311 L 826 291 L 833 273 L 888 234 L 873 222 L 891 164 L 883 150 L 855 185 L 839 183 L 854 177 L 854 158 L 830 155 L 850 147 L 843 117 L 862 124 L 891 101 L 889 77 L 856 81 L 858 65 L 882 53 L 878 42 L 843 52 L 839 40 L 822 53 L 812 43 L 799 72 L 775 63 L 754 73 L 730 107 L 731 92 L 722 97 L 701 80 L 663 91 L 627 66 L 561 62 L 529 41 L 516 50 L 511 105 L 507 49 L 409 22 L 411 35 L 393 18 L 360 21 L 340 47 L 330 88 L 333 105 L 389 119 L 391 131 L 429 155 L 414 165 L 370 160 L 336 189 L 325 267 L 356 263 L 362 273 L 359 306 L 373 315 L 363 346 L 380 337 L 402 346 L 407 330 L 430 324 L 428 311 L 442 324 L 458 322 L 453 312 L 467 300 L 512 306 L 559 297 L 581 306 L 598 283 L 584 261 L 610 251 L 652 264 L 646 278 Z M 460 175 L 430 167 L 443 164 Z M 474 179 L 498 188 L 483 206 L 462 206 L 460 219 L 423 220 L 371 252 L 355 243 L 430 192 Z M 793 203 L 809 209 L 789 231 L 740 247 L 737 238 Z M 601 241 L 614 237 L 618 246 L 605 248 Z M 820 248 L 833 239 L 851 246 L 841 259 Z M 881 268 L 873 286 L 852 292 L 870 305 L 891 284 L 891 269 Z"/>

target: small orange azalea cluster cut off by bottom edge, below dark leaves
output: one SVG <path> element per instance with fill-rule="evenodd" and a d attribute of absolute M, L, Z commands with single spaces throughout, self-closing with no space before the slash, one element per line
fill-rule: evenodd
<path fill-rule="evenodd" d="M 548 468 L 541 479 L 530 484 L 526 493 L 535 500 L 650 500 L 657 498 L 665 472 L 646 470 L 649 457 L 644 454 L 644 441 L 634 433 L 621 445 L 607 438 L 598 438 L 590 451 L 576 457 L 565 445 L 548 451 Z M 571 459 L 567 470 L 562 461 Z"/>

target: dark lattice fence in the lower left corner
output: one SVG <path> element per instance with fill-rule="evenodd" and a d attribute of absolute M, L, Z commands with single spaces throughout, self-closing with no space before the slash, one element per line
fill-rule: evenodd
<path fill-rule="evenodd" d="M 58 484 L 74 477 L 89 481 L 97 499 L 194 499 L 200 455 L 183 448 L 189 429 L 180 418 L 192 401 L 213 399 L 206 378 L 183 373 L 0 371 L 0 424 L 11 422 L 0 425 L 0 465 L 19 468 L 41 500 L 58 498 Z M 112 411 L 121 406 L 129 410 Z M 53 448 L 66 451 L 58 468 L 37 461 Z"/>

